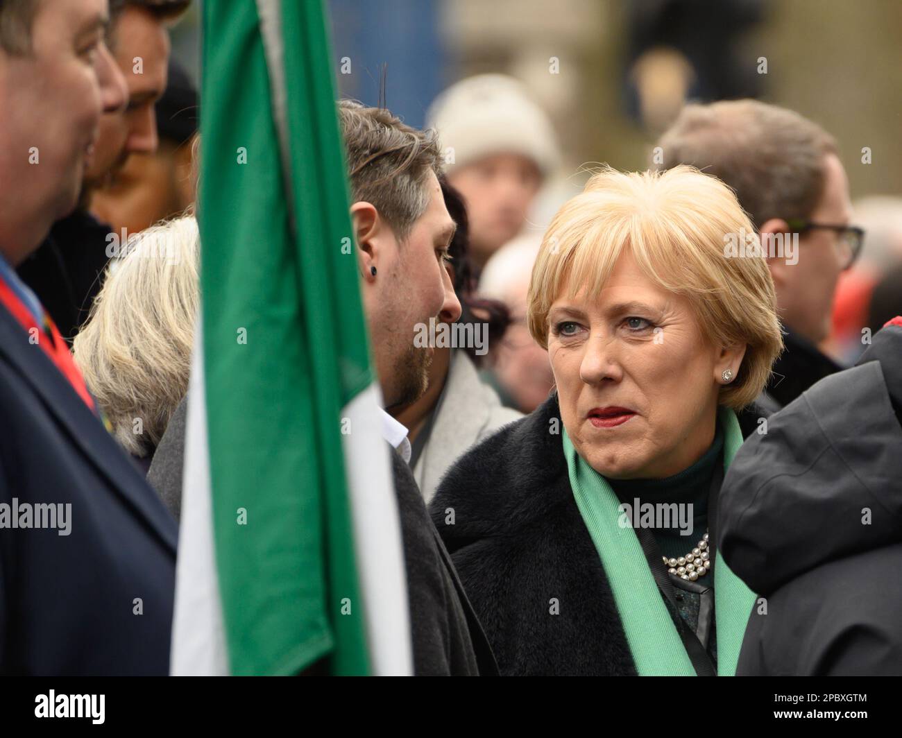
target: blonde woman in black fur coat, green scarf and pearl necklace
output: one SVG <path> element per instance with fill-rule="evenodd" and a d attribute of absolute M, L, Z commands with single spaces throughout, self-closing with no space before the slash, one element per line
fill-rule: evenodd
<path fill-rule="evenodd" d="M 782 346 L 763 257 L 725 255 L 744 234 L 685 166 L 600 171 L 552 221 L 528 322 L 556 392 L 431 506 L 502 674 L 734 672 L 755 595 L 717 499 Z"/>

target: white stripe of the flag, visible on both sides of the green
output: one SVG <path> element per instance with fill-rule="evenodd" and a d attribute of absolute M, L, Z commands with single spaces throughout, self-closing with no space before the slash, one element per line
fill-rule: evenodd
<path fill-rule="evenodd" d="M 213 540 L 200 325 L 198 320 L 188 393 L 170 664 L 170 673 L 183 677 L 230 673 Z M 410 676 L 407 577 L 398 503 L 393 484 L 384 484 L 391 480 L 391 449 L 379 429 L 379 405 L 379 390 L 371 385 L 342 411 L 351 429 L 342 436 L 345 475 L 371 669 L 377 676 Z"/>

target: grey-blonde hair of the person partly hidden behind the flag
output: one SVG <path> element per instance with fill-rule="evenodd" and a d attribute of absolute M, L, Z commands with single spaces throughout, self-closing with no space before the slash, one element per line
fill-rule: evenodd
<path fill-rule="evenodd" d="M 111 261 L 73 352 L 116 440 L 145 457 L 188 392 L 200 289 L 197 221 L 152 226 L 124 251 Z"/>

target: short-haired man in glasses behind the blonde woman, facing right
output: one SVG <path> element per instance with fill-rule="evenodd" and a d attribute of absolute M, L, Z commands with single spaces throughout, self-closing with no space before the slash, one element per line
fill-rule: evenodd
<path fill-rule="evenodd" d="M 861 251 L 849 180 L 819 125 L 757 100 L 686 106 L 661 137 L 663 169 L 693 164 L 736 191 L 762 243 L 797 236 L 797 259 L 768 259 L 786 351 L 758 404 L 777 411 L 842 369 L 817 345 L 827 337 L 840 273 Z"/>

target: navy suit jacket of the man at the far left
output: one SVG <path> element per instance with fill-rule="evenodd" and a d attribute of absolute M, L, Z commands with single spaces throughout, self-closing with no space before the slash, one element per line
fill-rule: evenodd
<path fill-rule="evenodd" d="M 165 675 L 175 521 L 28 339 L 0 306 L 0 504 L 70 504 L 70 532 L 0 529 L 0 674 Z"/>

